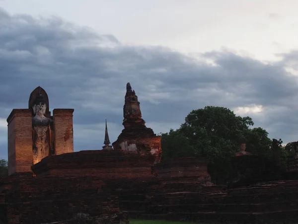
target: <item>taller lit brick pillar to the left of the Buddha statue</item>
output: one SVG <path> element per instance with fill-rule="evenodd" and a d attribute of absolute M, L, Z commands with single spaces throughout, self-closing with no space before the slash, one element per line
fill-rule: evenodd
<path fill-rule="evenodd" d="M 8 175 L 32 172 L 32 111 L 13 109 L 7 118 Z"/>

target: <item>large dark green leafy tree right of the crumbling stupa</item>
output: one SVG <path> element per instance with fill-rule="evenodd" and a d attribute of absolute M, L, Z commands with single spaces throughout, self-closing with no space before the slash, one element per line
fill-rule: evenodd
<path fill-rule="evenodd" d="M 253 154 L 270 153 L 272 142 L 268 132 L 260 127 L 251 128 L 253 125 L 252 118 L 236 116 L 227 108 L 205 107 L 190 112 L 176 131 L 163 134 L 162 149 L 166 151 L 166 158 L 181 154 L 207 157 L 212 178 L 223 183 L 228 178 L 230 159 L 238 151 L 239 143 L 246 142 L 247 151 Z M 188 147 L 185 151 L 184 145 Z"/>

